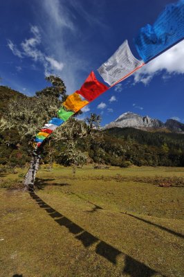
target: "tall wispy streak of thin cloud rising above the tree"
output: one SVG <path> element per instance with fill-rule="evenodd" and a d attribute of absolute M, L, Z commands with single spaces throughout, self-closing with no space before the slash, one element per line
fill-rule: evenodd
<path fill-rule="evenodd" d="M 46 45 L 47 57 L 53 57 L 57 62 L 64 64 L 62 71 L 55 70 L 66 85 L 68 94 L 81 87 L 84 81 L 82 73 L 89 73 L 90 60 L 84 57 L 84 47 L 76 44 L 76 39 L 84 39 L 83 33 L 77 28 L 76 14 L 71 7 L 71 0 L 42 0 L 37 1 L 35 21 L 42 30 L 42 45 Z M 77 13 L 79 11 L 77 10 Z M 85 60 L 84 60 L 85 59 Z M 49 64 L 50 65 L 50 64 Z M 49 66 L 45 70 L 50 73 Z"/>

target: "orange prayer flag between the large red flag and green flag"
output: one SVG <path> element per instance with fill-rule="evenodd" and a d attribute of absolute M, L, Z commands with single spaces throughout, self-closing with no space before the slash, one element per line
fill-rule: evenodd
<path fill-rule="evenodd" d="M 66 109 L 71 109 L 75 112 L 80 111 L 80 109 L 82 109 L 87 104 L 89 104 L 89 102 L 86 100 L 82 100 L 80 98 L 80 95 L 76 92 L 68 96 L 66 98 L 66 101 L 62 103 L 62 105 L 66 107 Z"/>

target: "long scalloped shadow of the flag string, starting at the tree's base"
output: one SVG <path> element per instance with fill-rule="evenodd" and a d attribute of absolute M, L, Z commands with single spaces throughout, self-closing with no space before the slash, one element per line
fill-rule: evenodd
<path fill-rule="evenodd" d="M 59 224 L 60 226 L 65 226 L 70 233 L 73 233 L 74 238 L 80 240 L 84 247 L 87 248 L 96 243 L 97 245 L 95 247 L 95 253 L 106 258 L 107 260 L 109 260 L 109 262 L 112 262 L 113 265 L 116 265 L 116 258 L 118 256 L 124 256 L 125 267 L 122 273 L 127 273 L 131 277 L 151 277 L 157 273 L 154 269 L 147 267 L 147 265 L 143 264 L 142 262 L 138 262 L 138 260 L 135 260 L 122 251 L 119 251 L 115 247 L 112 247 L 110 244 L 107 244 L 107 242 L 100 240 L 88 231 L 84 230 L 79 225 L 69 220 L 61 213 L 55 211 L 54 208 L 46 204 L 46 202 L 44 202 L 35 193 L 30 193 L 30 196 L 35 199 L 40 208 L 44 208 L 48 215 L 50 215 L 50 217 L 52 217 L 53 220 L 57 222 L 57 224 Z"/>

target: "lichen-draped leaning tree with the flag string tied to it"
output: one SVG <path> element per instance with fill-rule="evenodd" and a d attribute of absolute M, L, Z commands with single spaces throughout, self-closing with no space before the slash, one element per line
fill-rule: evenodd
<path fill-rule="evenodd" d="M 46 77 L 48 82 L 51 82 L 50 87 L 46 87 L 41 91 L 37 91 L 35 96 L 17 98 L 11 100 L 8 105 L 7 113 L 1 118 L 0 127 L 3 130 L 16 128 L 19 132 L 20 139 L 29 141 L 28 152 L 32 155 L 30 167 L 24 179 L 25 190 L 34 190 L 34 182 L 39 168 L 41 153 L 44 151 L 44 145 L 50 144 L 50 141 L 56 143 L 62 141 L 66 145 L 66 159 L 70 165 L 75 166 L 80 160 L 85 160 L 85 154 L 77 149 L 77 139 L 85 136 L 91 139 L 98 136 L 93 132 L 93 129 L 98 129 L 100 124 L 100 116 L 91 114 L 91 117 L 86 118 L 86 123 L 82 120 L 76 120 L 74 117 L 69 118 L 64 125 L 57 128 L 55 132 L 44 140 L 42 145 L 34 150 L 33 136 L 37 134 L 42 126 L 56 116 L 61 103 L 66 100 L 66 87 L 64 82 L 53 75 Z M 80 114 L 79 111 L 77 114 Z M 77 115 L 75 114 L 75 116 Z M 90 139 L 90 140 L 91 140 Z M 50 148 L 49 157 L 52 155 Z"/>

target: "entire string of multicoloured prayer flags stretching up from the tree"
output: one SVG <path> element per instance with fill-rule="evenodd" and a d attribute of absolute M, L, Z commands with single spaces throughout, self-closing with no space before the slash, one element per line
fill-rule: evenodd
<path fill-rule="evenodd" d="M 134 39 L 134 45 L 142 60 L 136 59 L 131 53 L 127 40 L 118 50 L 104 62 L 98 69 L 106 84 L 98 81 L 95 73 L 91 71 L 82 87 L 72 93 L 62 102 L 57 111 L 57 118 L 52 118 L 42 127 L 35 137 L 35 148 L 39 148 L 42 142 L 62 125 L 73 114 L 80 111 L 102 93 L 128 78 L 135 71 L 147 64 L 150 60 L 167 51 L 168 48 L 180 42 L 184 38 L 184 0 L 169 4 L 160 13 L 154 24 L 140 28 L 138 36 Z"/>

